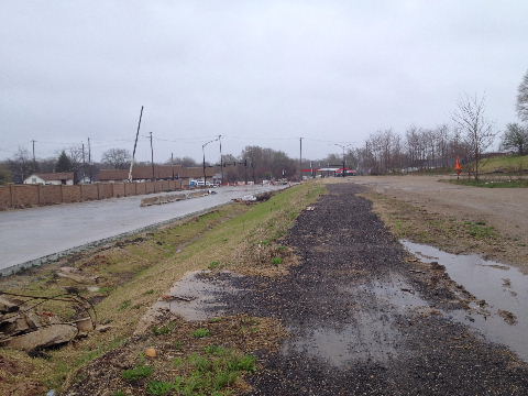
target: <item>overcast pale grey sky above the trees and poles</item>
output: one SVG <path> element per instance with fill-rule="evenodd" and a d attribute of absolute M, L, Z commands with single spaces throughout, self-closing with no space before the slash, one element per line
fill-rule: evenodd
<path fill-rule="evenodd" d="M 0 158 L 89 136 L 96 160 L 154 132 L 155 160 L 258 144 L 306 157 L 378 129 L 450 122 L 486 94 L 516 120 L 528 1 L 70 1 L 0 4 Z M 163 140 L 162 140 L 163 139 Z M 208 147 L 208 157 L 218 146 Z M 139 158 L 147 160 L 146 139 Z"/>

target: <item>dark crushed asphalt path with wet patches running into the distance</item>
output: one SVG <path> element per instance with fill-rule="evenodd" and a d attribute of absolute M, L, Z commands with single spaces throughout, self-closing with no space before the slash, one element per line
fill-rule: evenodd
<path fill-rule="evenodd" d="M 250 377 L 254 395 L 528 395 L 528 365 L 450 312 L 359 197 L 330 185 L 286 243 L 300 264 L 277 278 L 233 277 L 228 311 L 282 320 L 290 337 Z M 527 336 L 528 341 L 528 336 Z"/>

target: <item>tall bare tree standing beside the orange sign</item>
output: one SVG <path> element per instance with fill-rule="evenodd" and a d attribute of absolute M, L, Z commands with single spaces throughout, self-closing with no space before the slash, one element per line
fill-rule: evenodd
<path fill-rule="evenodd" d="M 453 113 L 453 121 L 460 127 L 463 140 L 470 148 L 473 176 L 477 182 L 482 154 L 493 143 L 496 134 L 484 113 L 485 97 L 479 98 L 476 95 L 461 99 Z"/>

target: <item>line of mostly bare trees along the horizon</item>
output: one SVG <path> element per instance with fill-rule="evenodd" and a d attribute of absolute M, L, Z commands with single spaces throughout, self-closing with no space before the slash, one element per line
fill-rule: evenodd
<path fill-rule="evenodd" d="M 501 136 L 501 150 L 527 154 L 528 150 L 528 70 L 518 87 L 516 110 L 519 122 L 508 123 Z M 392 129 L 372 133 L 356 147 L 343 154 L 329 154 L 326 158 L 305 158 L 301 164 L 286 153 L 256 145 L 246 146 L 239 155 L 222 156 L 226 182 L 244 179 L 298 178 L 300 168 L 342 166 L 355 168 L 360 174 L 382 175 L 450 168 L 457 158 L 477 179 L 481 161 L 492 146 L 498 132 L 486 116 L 484 97 L 463 97 L 455 107 L 452 122 L 436 128 L 410 125 L 405 133 Z M 125 169 L 130 166 L 128 150 L 107 150 L 99 163 L 86 161 L 80 146 L 62 150 L 56 157 L 32 158 L 25 148 L 0 162 L 0 184 L 23 183 L 33 173 L 74 172 L 77 178 L 97 175 L 100 168 Z M 191 157 L 169 158 L 165 164 L 202 166 Z M 138 163 L 147 165 L 148 163 Z M 206 163 L 206 166 L 219 164 Z"/>

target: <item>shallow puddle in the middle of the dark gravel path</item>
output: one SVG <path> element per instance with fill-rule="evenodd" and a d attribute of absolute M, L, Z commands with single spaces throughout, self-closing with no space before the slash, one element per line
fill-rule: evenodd
<path fill-rule="evenodd" d="M 396 275 L 387 282 L 340 287 L 340 292 L 350 294 L 351 300 L 362 301 L 351 316 L 352 322 L 314 329 L 292 327 L 289 331 L 296 337 L 284 344 L 283 354 L 301 353 L 344 370 L 358 362 L 384 364 L 398 356 L 398 345 L 404 341 L 391 312 L 429 307 Z"/>

